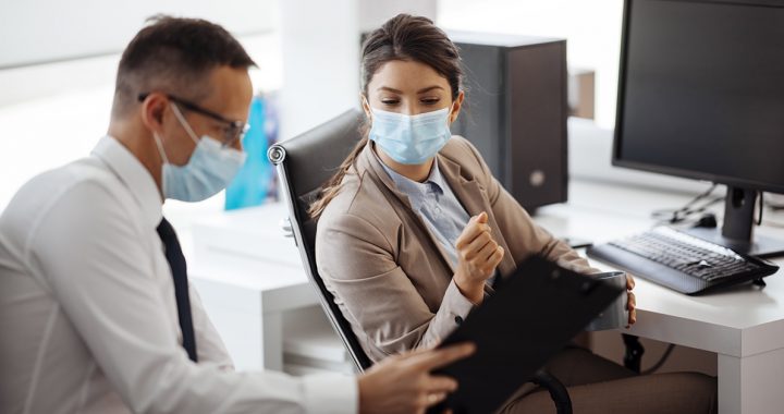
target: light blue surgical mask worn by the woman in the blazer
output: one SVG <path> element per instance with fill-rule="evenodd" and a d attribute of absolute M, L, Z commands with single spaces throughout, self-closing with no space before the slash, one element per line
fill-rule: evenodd
<path fill-rule="evenodd" d="M 450 108 L 418 115 L 373 108 L 369 138 L 400 163 L 424 163 L 434 157 L 452 136 L 449 114 Z"/>

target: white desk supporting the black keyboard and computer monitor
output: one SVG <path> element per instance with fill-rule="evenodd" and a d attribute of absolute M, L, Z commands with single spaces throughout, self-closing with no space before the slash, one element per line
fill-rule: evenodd
<path fill-rule="evenodd" d="M 657 208 L 677 208 L 689 196 L 573 182 L 567 205 L 541 208 L 537 221 L 555 234 L 608 241 L 649 228 Z M 784 239 L 784 231 L 759 228 Z M 784 266 L 784 259 L 774 260 Z M 593 261 L 599 268 L 611 268 Z M 637 278 L 637 324 L 629 333 L 715 352 L 719 412 L 784 411 L 784 271 L 758 290 L 740 287 L 686 296 Z"/>

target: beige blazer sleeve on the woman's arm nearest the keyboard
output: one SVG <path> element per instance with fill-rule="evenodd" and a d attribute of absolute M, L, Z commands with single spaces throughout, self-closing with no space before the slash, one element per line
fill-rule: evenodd
<path fill-rule="evenodd" d="M 479 181 L 487 191 L 495 222 L 512 249 L 510 253 L 515 263 L 522 261 L 529 255 L 539 254 L 579 273 L 600 271 L 592 268 L 588 260 L 580 257 L 568 244 L 534 222 L 528 211 L 492 175 L 479 151 L 467 141 L 463 142 L 481 168 Z"/>

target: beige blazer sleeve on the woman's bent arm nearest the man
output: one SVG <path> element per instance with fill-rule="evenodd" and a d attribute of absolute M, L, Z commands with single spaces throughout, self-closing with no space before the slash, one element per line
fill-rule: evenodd
<path fill-rule="evenodd" d="M 438 344 L 474 306 L 451 281 L 431 312 L 394 257 L 392 243 L 360 217 L 342 214 L 319 222 L 319 273 L 375 361 Z"/>

